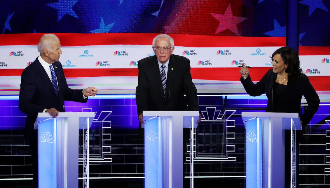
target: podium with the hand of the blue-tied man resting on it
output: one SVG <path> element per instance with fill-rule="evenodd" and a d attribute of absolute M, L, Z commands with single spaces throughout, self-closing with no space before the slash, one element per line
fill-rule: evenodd
<path fill-rule="evenodd" d="M 83 139 L 83 187 L 88 187 L 88 134 L 95 112 L 60 112 L 52 118 L 39 113 L 38 187 L 78 187 L 79 129 Z"/>

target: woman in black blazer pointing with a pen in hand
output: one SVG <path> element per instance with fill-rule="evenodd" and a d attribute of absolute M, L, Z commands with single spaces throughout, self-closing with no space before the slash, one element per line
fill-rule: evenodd
<path fill-rule="evenodd" d="M 240 70 L 240 78 L 246 92 L 259 96 L 266 92 L 268 103 L 266 112 L 297 112 L 303 129 L 314 116 L 320 104 L 312 84 L 300 68 L 297 52 L 292 47 L 281 47 L 272 55 L 273 68 L 254 84 L 245 65 Z M 301 98 L 307 100 L 308 107 L 301 113 Z"/>

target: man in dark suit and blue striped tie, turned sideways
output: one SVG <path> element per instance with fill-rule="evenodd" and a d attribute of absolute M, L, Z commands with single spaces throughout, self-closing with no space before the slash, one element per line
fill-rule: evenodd
<path fill-rule="evenodd" d="M 59 112 L 64 112 L 64 100 L 86 103 L 88 96 L 97 93 L 95 87 L 81 90 L 68 87 L 58 61 L 62 50 L 56 35 L 43 35 L 38 51 L 40 56 L 22 73 L 18 100 L 18 108 L 27 114 L 24 137 L 30 143 L 34 187 L 38 183 L 38 130 L 34 129 L 38 112 L 48 112 L 56 117 Z"/>

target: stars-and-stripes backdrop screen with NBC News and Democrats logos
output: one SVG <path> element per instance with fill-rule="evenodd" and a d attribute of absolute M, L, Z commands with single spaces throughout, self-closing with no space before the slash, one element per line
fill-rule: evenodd
<path fill-rule="evenodd" d="M 319 91 L 330 90 L 327 82 L 318 81 L 330 76 L 329 9 L 330 0 L 299 1 L 301 67 Z M 139 59 L 152 55 L 152 38 L 166 33 L 175 40 L 174 54 L 187 55 L 190 59 L 192 77 L 200 86 L 221 82 L 220 88 L 228 83 L 239 85 L 233 88 L 243 88 L 237 82 L 240 77 L 237 66 L 232 65 L 248 62 L 253 67 L 252 79 L 260 80 L 271 67 L 268 56 L 285 46 L 286 20 L 286 0 L 5 1 L 0 6 L 0 63 L 3 64 L 2 67 L 0 64 L 0 79 L 7 81 L 10 76 L 20 76 L 24 67 L 37 57 L 35 45 L 40 36 L 55 33 L 62 47 L 68 47 L 60 58 L 62 65 L 67 64 L 63 66 L 66 77 L 76 78 L 89 69 L 94 71 L 94 77 L 123 76 L 137 83 L 134 65 Z M 31 54 L 30 48 L 35 53 Z M 89 54 L 93 50 L 102 53 L 94 52 L 94 59 L 82 59 L 79 55 L 85 50 Z M 117 51 L 129 58 L 118 59 L 114 56 Z M 18 52 L 24 57 L 14 59 Z M 193 57 L 194 54 L 197 56 Z M 225 55 L 231 56 L 222 58 Z M 101 62 L 110 65 L 107 70 L 96 69 L 94 65 Z M 72 84 L 78 84 L 77 80 L 72 79 Z M 19 86 L 2 83 L 0 89 L 18 90 Z M 102 89 L 118 88 L 104 85 Z"/>

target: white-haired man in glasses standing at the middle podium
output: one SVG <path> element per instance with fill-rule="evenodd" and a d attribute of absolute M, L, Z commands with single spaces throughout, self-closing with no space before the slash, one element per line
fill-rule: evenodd
<path fill-rule="evenodd" d="M 155 55 L 138 63 L 136 106 L 140 122 L 144 124 L 143 111 L 199 111 L 189 59 L 172 54 L 174 40 L 166 34 L 153 39 L 152 49 Z M 200 120 L 201 115 L 197 123 Z"/>

